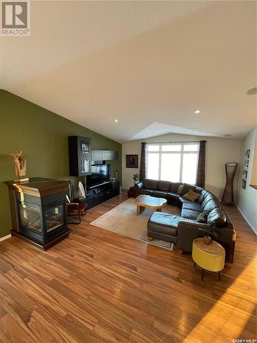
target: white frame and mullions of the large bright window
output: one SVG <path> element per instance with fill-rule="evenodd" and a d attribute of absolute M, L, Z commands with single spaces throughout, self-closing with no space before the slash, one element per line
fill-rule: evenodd
<path fill-rule="evenodd" d="M 150 145 L 159 145 L 159 151 L 148 151 L 148 147 Z M 163 145 L 181 145 L 180 151 L 162 151 Z M 196 151 L 184 151 L 184 145 L 197 145 L 197 152 Z M 158 180 L 160 179 L 161 175 L 161 166 L 162 166 L 162 154 L 181 154 L 180 156 L 180 180 L 178 182 L 182 182 L 182 174 L 183 174 L 183 156 L 184 154 L 197 154 L 197 165 L 198 165 L 198 158 L 199 158 L 199 141 L 198 142 L 172 142 L 172 143 L 147 143 L 146 146 L 146 169 L 148 169 L 148 154 L 159 154 L 159 169 L 158 169 Z M 146 170 L 147 175 L 147 170 Z M 196 181 L 196 180 L 195 180 Z"/>

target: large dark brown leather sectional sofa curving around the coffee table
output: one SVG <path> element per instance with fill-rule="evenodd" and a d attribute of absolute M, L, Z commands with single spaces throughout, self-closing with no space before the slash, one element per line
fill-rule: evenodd
<path fill-rule="evenodd" d="M 183 185 L 183 189 L 179 194 L 180 185 Z M 197 201 L 191 202 L 183 198 L 189 189 L 200 193 Z M 210 224 L 215 224 L 213 232 L 218 237 L 217 241 L 225 248 L 225 261 L 233 263 L 236 233 L 214 194 L 195 185 L 149 179 L 136 185 L 136 195 L 140 194 L 165 198 L 169 204 L 176 204 L 181 208 L 180 216 L 163 212 L 151 215 L 147 224 L 149 237 L 172 241 L 181 250 L 191 252 L 193 240 L 206 235 L 199 228 L 208 228 Z M 206 223 L 196 222 L 197 216 L 203 212 L 208 215 Z"/>

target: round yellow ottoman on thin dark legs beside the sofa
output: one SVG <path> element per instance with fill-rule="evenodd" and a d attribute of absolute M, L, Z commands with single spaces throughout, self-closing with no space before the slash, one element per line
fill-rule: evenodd
<path fill-rule="evenodd" d="M 204 280 L 205 270 L 218 272 L 221 279 L 221 270 L 225 265 L 225 249 L 217 241 L 211 244 L 205 244 L 203 238 L 197 238 L 193 241 L 192 257 L 199 267 L 203 268 L 201 280 Z M 195 265 L 195 264 L 194 264 Z"/>

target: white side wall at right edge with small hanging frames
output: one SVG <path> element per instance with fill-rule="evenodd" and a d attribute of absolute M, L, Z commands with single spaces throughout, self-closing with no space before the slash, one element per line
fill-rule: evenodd
<path fill-rule="evenodd" d="M 236 206 L 239 211 L 241 211 L 245 220 L 252 227 L 254 232 L 257 234 L 257 190 L 249 185 L 252 177 L 252 166 L 254 161 L 254 149 L 256 142 L 256 132 L 257 129 L 253 130 L 245 140 L 242 142 L 241 146 L 241 158 L 240 165 L 238 168 L 238 184 L 236 192 Z M 245 159 L 245 151 L 250 149 L 249 167 L 246 188 L 241 187 L 242 173 L 243 173 L 243 162 Z"/>

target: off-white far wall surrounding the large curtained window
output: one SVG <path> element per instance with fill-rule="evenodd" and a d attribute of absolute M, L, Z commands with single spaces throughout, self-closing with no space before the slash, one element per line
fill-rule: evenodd
<path fill-rule="evenodd" d="M 122 145 L 122 180 L 123 188 L 128 189 L 134 185 L 132 176 L 139 173 L 139 169 L 126 168 L 125 155 L 138 154 L 138 164 L 140 163 L 141 142 L 175 142 L 175 141 L 201 141 L 206 143 L 206 189 L 214 193 L 219 199 L 222 198 L 225 187 L 225 163 L 239 162 L 241 157 L 241 141 L 231 141 L 228 139 L 218 139 L 212 137 L 196 137 L 183 134 L 165 134 L 164 136 L 143 139 L 142 141 L 131 141 Z M 138 165 L 139 167 L 139 165 Z M 236 173 L 234 180 L 234 190 L 237 185 Z"/>

